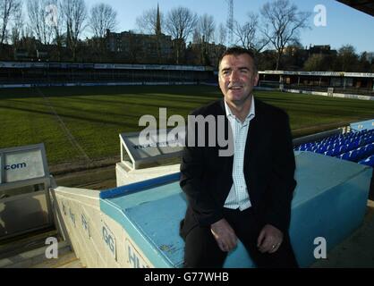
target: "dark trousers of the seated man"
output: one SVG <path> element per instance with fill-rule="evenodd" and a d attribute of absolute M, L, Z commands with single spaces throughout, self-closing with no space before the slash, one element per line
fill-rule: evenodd
<path fill-rule="evenodd" d="M 225 220 L 230 223 L 236 236 L 242 241 L 254 264 L 259 268 L 298 267 L 288 233 L 275 253 L 261 253 L 257 248 L 259 231 L 263 225 L 257 223 L 251 208 L 244 211 L 225 208 Z M 227 252 L 222 251 L 210 231 L 210 227 L 195 227 L 185 239 L 184 267 L 222 268 Z"/>

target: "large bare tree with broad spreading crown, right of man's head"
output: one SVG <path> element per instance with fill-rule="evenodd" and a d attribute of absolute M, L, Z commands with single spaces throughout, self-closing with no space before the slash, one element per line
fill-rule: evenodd
<path fill-rule="evenodd" d="M 264 4 L 260 10 L 263 19 L 262 32 L 276 48 L 276 70 L 285 46 L 299 38 L 301 29 L 308 28 L 310 13 L 299 12 L 289 0 L 276 0 Z"/>

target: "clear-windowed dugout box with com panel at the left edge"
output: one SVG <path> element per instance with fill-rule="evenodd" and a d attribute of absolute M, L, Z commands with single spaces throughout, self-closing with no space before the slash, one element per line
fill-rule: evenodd
<path fill-rule="evenodd" d="M 53 223 L 48 198 L 50 185 L 42 143 L 0 149 L 0 240 Z"/>

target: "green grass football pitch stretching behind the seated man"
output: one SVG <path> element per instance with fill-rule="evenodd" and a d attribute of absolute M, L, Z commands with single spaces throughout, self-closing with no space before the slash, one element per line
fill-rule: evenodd
<path fill-rule="evenodd" d="M 374 118 L 374 101 L 255 91 L 285 109 L 293 137 Z M 209 86 L 118 86 L 0 89 L 0 148 L 44 143 L 48 164 L 120 154 L 118 134 L 140 131 L 144 114 L 184 118 L 221 97 Z"/>

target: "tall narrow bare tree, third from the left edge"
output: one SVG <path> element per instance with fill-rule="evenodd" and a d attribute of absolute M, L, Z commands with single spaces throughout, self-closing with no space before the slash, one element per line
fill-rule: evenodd
<path fill-rule="evenodd" d="M 72 57 L 75 60 L 79 37 L 86 28 L 87 8 L 84 0 L 64 0 L 61 9 L 66 24 L 67 46 L 72 50 Z"/>

